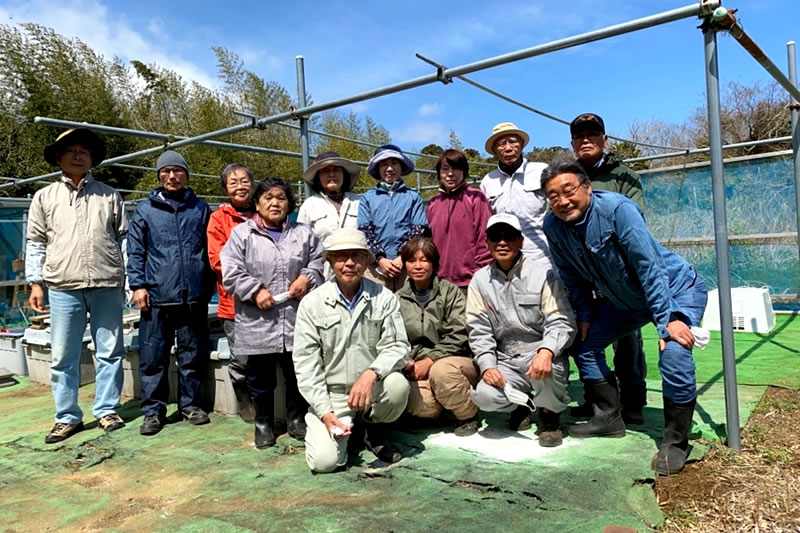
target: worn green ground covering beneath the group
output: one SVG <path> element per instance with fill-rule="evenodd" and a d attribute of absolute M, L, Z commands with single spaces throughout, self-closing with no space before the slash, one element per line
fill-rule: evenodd
<path fill-rule="evenodd" d="M 793 318 L 781 317 L 775 335 L 736 335 L 739 376 L 756 383 L 739 387 L 743 424 L 765 385 L 798 382 L 798 330 Z M 128 425 L 120 431 L 103 435 L 92 422 L 63 443 L 45 445 L 49 388 L 22 379 L 0 389 L 0 525 L 6 531 L 585 532 L 616 524 L 644 531 L 662 521 L 650 470 L 663 424 L 654 342 L 648 334 L 646 423 L 623 439 L 567 438 L 560 448 L 544 449 L 533 431 L 512 433 L 506 417 L 491 416 L 478 435 L 464 439 L 449 428 L 395 431 L 406 456 L 400 463 L 387 467 L 361 452 L 347 471 L 331 475 L 312 475 L 302 444 L 285 435 L 275 448 L 256 451 L 252 427 L 235 417 L 212 414 L 207 426 L 172 423 L 142 437 L 136 402 L 125 404 Z M 699 385 L 693 433 L 714 438 L 724 435 L 725 403 L 713 340 L 697 359 L 706 382 Z M 579 383 L 571 390 L 580 397 Z M 92 394 L 93 386 L 81 389 L 85 412 Z M 695 443 L 692 457 L 704 452 Z"/>

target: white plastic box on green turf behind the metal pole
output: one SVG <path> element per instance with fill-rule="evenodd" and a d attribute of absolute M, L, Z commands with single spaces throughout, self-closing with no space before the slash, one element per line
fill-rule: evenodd
<path fill-rule="evenodd" d="M 775 327 L 775 311 L 767 289 L 735 287 L 731 289 L 733 331 L 769 333 Z M 703 327 L 719 331 L 719 289 L 708 293 Z"/>

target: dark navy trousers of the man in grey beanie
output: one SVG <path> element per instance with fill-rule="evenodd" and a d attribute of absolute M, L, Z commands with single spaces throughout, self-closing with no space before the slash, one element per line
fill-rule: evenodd
<path fill-rule="evenodd" d="M 142 312 L 139 377 L 145 416 L 165 416 L 169 400 L 169 357 L 177 338 L 178 409 L 200 408 L 200 385 L 208 368 L 208 304 L 165 305 Z"/>

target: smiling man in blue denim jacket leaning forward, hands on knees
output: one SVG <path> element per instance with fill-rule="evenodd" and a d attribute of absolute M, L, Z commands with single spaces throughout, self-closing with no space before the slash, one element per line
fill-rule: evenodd
<path fill-rule="evenodd" d="M 659 474 L 680 472 L 697 395 L 691 327 L 699 326 L 705 310 L 705 283 L 691 265 L 653 238 L 635 202 L 592 191 L 577 162 L 554 163 L 541 180 L 552 208 L 544 231 L 577 315 L 579 338 L 572 352 L 593 397 L 594 416 L 572 426 L 570 435 L 625 435 L 619 393 L 608 379 L 603 350 L 652 322 L 660 339 L 665 423 L 652 466 Z M 607 298 L 597 308 L 592 306 L 594 287 Z"/>

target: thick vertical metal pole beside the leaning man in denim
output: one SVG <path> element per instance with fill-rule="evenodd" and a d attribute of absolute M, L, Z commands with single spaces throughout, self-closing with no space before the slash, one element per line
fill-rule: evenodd
<path fill-rule="evenodd" d="M 703 32 L 706 61 L 706 99 L 708 100 L 708 143 L 711 149 L 711 193 L 714 206 L 714 245 L 719 280 L 719 317 L 722 334 L 722 372 L 725 380 L 725 414 L 728 447 L 742 449 L 739 433 L 739 397 L 736 388 L 736 352 L 733 346 L 731 316 L 731 271 L 728 256 L 728 217 L 725 209 L 725 170 L 722 162 L 722 124 L 719 103 L 719 65 L 717 34 Z"/>

